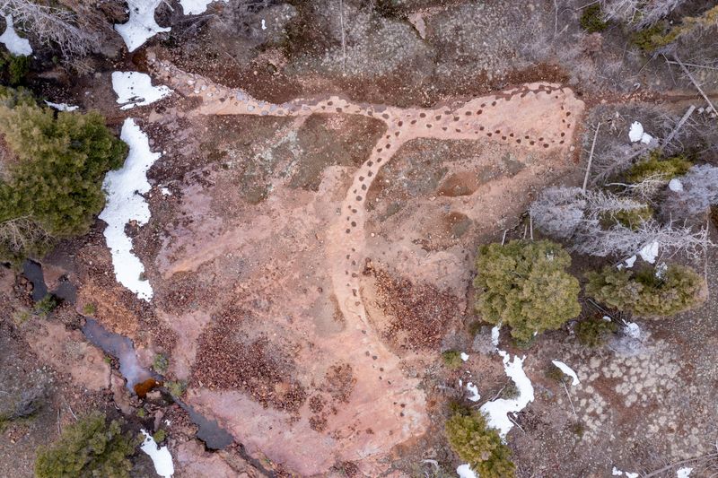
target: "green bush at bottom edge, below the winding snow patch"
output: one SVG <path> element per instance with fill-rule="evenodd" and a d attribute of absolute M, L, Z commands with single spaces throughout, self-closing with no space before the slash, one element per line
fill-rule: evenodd
<path fill-rule="evenodd" d="M 498 431 L 486 426 L 486 419 L 480 412 L 451 416 L 446 422 L 446 438 L 451 449 L 481 478 L 514 476 L 511 449 L 502 443 Z"/>

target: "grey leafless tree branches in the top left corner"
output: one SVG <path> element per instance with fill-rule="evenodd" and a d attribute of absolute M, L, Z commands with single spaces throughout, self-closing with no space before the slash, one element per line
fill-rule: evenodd
<path fill-rule="evenodd" d="M 0 12 L 12 15 L 41 44 L 57 46 L 68 60 L 85 56 L 96 47 L 95 33 L 80 28 L 75 14 L 64 8 L 31 0 L 0 0 Z"/>

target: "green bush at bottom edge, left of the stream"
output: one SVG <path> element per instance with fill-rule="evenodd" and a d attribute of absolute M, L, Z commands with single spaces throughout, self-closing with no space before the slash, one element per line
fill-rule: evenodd
<path fill-rule="evenodd" d="M 63 430 L 50 447 L 41 447 L 35 460 L 38 478 L 127 478 L 138 437 L 123 433 L 120 422 L 108 423 L 93 412 Z"/>

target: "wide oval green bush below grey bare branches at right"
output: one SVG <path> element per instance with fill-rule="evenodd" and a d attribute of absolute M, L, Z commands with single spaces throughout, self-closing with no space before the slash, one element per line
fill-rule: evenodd
<path fill-rule="evenodd" d="M 586 295 L 638 316 L 672 316 L 705 300 L 705 280 L 684 265 L 669 265 L 660 276 L 653 267 L 634 272 L 607 265 L 586 278 Z"/>

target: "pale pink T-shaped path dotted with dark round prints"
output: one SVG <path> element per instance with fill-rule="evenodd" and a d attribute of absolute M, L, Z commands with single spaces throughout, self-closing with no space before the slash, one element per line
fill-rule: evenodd
<path fill-rule="evenodd" d="M 373 423 L 377 426 L 375 430 L 383 431 L 356 439 L 359 443 L 354 443 L 354 453 L 381 454 L 391 445 L 423 433 L 425 397 L 416 388 L 418 380 L 404 376 L 398 357 L 385 347 L 367 320 L 361 298 L 359 276 L 366 260 L 366 193 L 381 166 L 390 161 L 403 143 L 416 138 L 489 139 L 538 152 L 567 152 L 582 115 L 583 102 L 575 98 L 573 91 L 557 84 L 530 83 L 434 109 L 355 103 L 338 96 L 273 104 L 251 98 L 240 89 L 216 85 L 152 57 L 149 61 L 162 83 L 182 95 L 202 100 L 196 109 L 181 113 L 184 115 L 302 117 L 344 113 L 373 117 L 386 124 L 386 131 L 371 156 L 355 172 L 341 205 L 342 213 L 328 231 L 328 271 L 339 308 L 347 321 L 345 332 L 337 336 L 331 346 L 346 350 L 345 360 L 352 364 L 357 378 L 351 402 L 346 407 L 346 422 Z M 342 343 L 352 343 L 352 346 L 342 347 Z M 376 393 L 377 388 L 381 388 L 381 395 Z M 372 400 L 372 406 L 366 403 L 367 399 Z M 376 401 L 381 401 L 381 406 L 376 406 Z M 400 409 L 397 404 L 401 404 Z M 391 426 L 392 422 L 396 426 Z"/>

